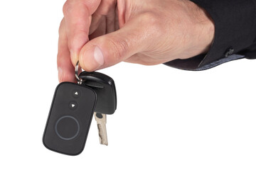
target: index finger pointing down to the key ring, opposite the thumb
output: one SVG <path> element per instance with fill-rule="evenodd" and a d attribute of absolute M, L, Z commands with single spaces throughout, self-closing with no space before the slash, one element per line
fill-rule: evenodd
<path fill-rule="evenodd" d="M 100 0 L 68 0 L 63 6 L 70 57 L 75 66 L 83 45 L 89 40 L 90 16 Z"/>

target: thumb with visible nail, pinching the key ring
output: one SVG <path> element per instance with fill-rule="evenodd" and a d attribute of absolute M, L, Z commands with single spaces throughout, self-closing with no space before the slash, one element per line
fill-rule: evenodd
<path fill-rule="evenodd" d="M 140 20 L 134 19 L 117 31 L 90 40 L 80 51 L 80 66 L 85 71 L 92 72 L 144 51 L 151 36 L 149 31 L 149 28 L 141 25 Z"/>

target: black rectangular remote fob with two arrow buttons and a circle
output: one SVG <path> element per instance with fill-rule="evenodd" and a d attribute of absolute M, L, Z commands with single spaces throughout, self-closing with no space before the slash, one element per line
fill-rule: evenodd
<path fill-rule="evenodd" d="M 85 147 L 96 101 L 97 95 L 90 87 L 60 83 L 53 96 L 43 145 L 62 154 L 80 154 Z"/>

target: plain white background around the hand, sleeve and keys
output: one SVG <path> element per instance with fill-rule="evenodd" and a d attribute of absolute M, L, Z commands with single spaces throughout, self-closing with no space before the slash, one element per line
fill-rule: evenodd
<path fill-rule="evenodd" d="M 1 1 L 0 169 L 256 169 L 256 61 L 203 72 L 121 63 L 100 72 L 117 88 L 109 146 L 93 118 L 70 157 L 42 143 L 58 85 L 64 0 Z"/>

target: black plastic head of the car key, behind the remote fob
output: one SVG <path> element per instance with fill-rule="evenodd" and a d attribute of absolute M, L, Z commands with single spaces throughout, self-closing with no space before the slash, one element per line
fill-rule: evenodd
<path fill-rule="evenodd" d="M 113 114 L 117 109 L 117 92 L 114 80 L 100 72 L 81 72 L 79 78 L 82 84 L 90 86 L 97 94 L 95 112 L 102 114 Z"/>

